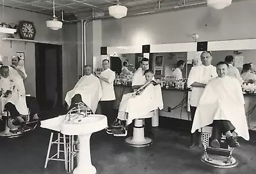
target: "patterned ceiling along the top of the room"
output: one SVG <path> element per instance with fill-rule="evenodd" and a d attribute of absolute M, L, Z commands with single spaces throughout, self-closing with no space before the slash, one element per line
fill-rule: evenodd
<path fill-rule="evenodd" d="M 120 3 L 127 6 L 129 15 L 129 13 L 149 13 L 152 10 L 159 10 L 158 1 L 161 1 L 160 9 L 182 5 L 184 2 L 188 5 L 206 2 L 206 0 L 120 0 Z M 5 0 L 4 6 L 52 15 L 52 2 L 53 0 Z M 3 4 L 3 0 L 0 0 L 0 4 Z M 108 16 L 108 8 L 113 4 L 116 4 L 116 0 L 55 0 L 57 15 L 60 15 L 60 11 L 64 11 L 65 15 L 73 14 L 80 19 L 95 17 L 95 13 L 98 17 Z"/>

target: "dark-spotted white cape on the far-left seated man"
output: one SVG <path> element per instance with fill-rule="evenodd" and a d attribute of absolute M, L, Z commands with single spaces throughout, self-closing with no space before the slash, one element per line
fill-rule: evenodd
<path fill-rule="evenodd" d="M 6 105 L 6 103 L 10 102 L 13 105 L 19 106 L 20 105 L 20 96 L 19 96 L 19 92 L 18 92 L 18 88 L 17 88 L 17 83 L 15 83 L 15 81 L 10 78 L 10 76 L 8 76 L 7 78 L 4 78 L 3 76 L 1 76 L 0 79 L 0 89 L 3 92 L 2 96 L 1 96 L 1 112 L 4 111 L 4 105 Z M 4 97 L 4 93 L 6 91 L 12 91 L 12 94 L 9 94 L 6 98 Z M 18 110 L 18 108 L 17 108 Z M 24 112 L 28 112 L 28 108 L 26 108 L 26 110 L 18 110 L 18 112 L 20 114 L 24 113 Z"/>

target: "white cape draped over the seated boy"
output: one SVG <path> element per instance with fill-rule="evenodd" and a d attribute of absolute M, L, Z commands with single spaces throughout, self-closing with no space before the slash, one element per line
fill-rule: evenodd
<path fill-rule="evenodd" d="M 159 108 L 163 109 L 163 98 L 160 85 L 149 84 L 138 96 L 132 96 L 133 93 L 125 94 L 122 97 L 118 111 L 118 119 L 127 120 L 127 125 L 131 124 L 133 119 L 146 119 L 148 113 Z M 127 118 L 125 118 L 125 113 Z"/>

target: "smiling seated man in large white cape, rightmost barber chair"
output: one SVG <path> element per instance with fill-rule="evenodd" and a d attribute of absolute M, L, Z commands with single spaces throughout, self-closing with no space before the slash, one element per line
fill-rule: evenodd
<path fill-rule="evenodd" d="M 221 134 L 230 147 L 239 147 L 237 136 L 249 140 L 244 112 L 244 97 L 237 78 L 228 76 L 228 63 L 218 62 L 218 76 L 207 83 L 196 108 L 191 133 L 209 124 L 213 125 L 209 145 L 220 148 Z"/>

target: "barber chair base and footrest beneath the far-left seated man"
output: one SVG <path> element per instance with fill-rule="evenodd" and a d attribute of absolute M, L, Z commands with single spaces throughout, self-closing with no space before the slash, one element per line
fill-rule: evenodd
<path fill-rule="evenodd" d="M 20 115 L 20 116 L 25 120 L 26 124 L 29 127 L 31 127 L 31 129 L 28 131 L 35 129 L 36 126 L 38 126 L 39 121 L 33 120 L 33 115 L 28 114 L 28 115 Z M 4 110 L 3 122 L 5 124 L 5 127 L 4 127 L 4 131 L 0 132 L 0 137 L 15 138 L 15 137 L 21 136 L 23 133 L 28 132 L 28 131 L 22 131 L 20 129 L 20 126 L 16 126 L 17 124 L 15 124 L 15 122 L 17 122 L 17 120 L 12 119 L 10 117 L 10 112 L 8 112 L 7 110 Z"/>

